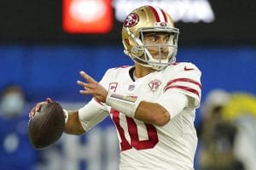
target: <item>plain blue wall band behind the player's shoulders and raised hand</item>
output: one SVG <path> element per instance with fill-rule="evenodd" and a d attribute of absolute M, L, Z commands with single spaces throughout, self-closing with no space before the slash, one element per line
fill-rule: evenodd
<path fill-rule="evenodd" d="M 212 88 L 256 94 L 256 48 L 178 48 L 177 61 L 195 63 L 201 71 L 202 99 Z M 18 83 L 29 101 L 53 97 L 90 99 L 79 94 L 76 80 L 84 70 L 100 80 L 109 67 L 132 65 L 122 47 L 5 46 L 0 47 L 0 89 Z"/>

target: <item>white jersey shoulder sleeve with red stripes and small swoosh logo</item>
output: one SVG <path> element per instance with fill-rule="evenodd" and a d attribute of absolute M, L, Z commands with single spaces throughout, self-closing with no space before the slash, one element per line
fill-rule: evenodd
<path fill-rule="evenodd" d="M 175 74 L 166 82 L 163 93 L 175 91 L 189 96 L 195 108 L 201 102 L 201 71 L 192 63 L 184 63 L 178 67 Z"/>

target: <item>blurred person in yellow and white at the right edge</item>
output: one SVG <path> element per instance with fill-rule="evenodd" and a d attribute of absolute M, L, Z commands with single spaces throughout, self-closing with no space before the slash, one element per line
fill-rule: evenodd
<path fill-rule="evenodd" d="M 252 94 L 230 94 L 224 106 L 224 122 L 234 122 L 237 127 L 234 155 L 246 170 L 256 167 L 256 97 Z"/>

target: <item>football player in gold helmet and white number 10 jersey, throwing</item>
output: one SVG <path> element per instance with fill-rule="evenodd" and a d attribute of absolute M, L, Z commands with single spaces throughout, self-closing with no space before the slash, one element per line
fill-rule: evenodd
<path fill-rule="evenodd" d="M 78 111 L 65 110 L 65 132 L 83 134 L 111 116 L 119 137 L 120 170 L 194 169 L 201 71 L 191 63 L 176 62 L 178 34 L 161 8 L 131 11 L 122 42 L 134 65 L 111 68 L 100 82 L 80 71 L 80 94 L 93 98 Z"/>

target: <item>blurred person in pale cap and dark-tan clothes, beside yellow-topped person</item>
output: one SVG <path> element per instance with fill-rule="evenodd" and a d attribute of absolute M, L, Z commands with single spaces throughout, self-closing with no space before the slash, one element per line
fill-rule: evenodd
<path fill-rule="evenodd" d="M 234 154 L 237 127 L 223 119 L 224 107 L 230 94 L 213 90 L 202 105 L 202 123 L 198 128 L 200 139 L 199 167 L 201 170 L 243 170 L 243 164 Z"/>

